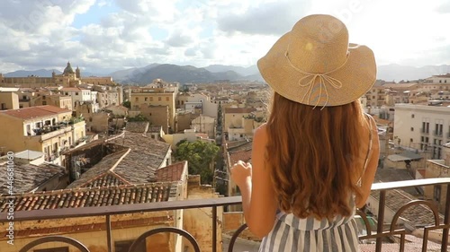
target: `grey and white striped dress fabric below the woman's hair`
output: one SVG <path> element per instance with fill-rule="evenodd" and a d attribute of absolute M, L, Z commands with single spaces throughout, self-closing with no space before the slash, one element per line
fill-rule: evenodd
<path fill-rule="evenodd" d="M 356 209 L 355 201 L 351 202 Z M 329 221 L 313 217 L 299 219 L 292 213 L 277 213 L 275 226 L 262 240 L 259 252 L 359 251 L 354 214 L 337 216 Z"/>

